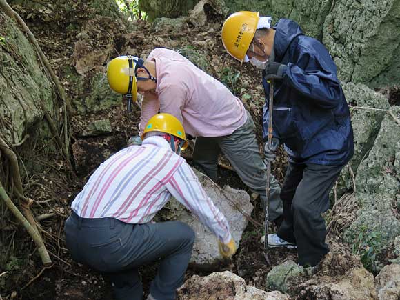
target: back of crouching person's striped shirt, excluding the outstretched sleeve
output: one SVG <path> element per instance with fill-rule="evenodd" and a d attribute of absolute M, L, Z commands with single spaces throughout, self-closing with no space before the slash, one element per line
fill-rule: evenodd
<path fill-rule="evenodd" d="M 165 183 L 185 160 L 159 139 L 120 150 L 92 174 L 72 203 L 79 217 L 114 217 L 126 223 L 147 223 L 170 193 Z"/>

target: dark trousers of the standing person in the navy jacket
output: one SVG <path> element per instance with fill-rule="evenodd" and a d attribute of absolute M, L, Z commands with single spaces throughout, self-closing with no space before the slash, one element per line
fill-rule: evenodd
<path fill-rule="evenodd" d="M 321 214 L 329 208 L 329 192 L 342 168 L 288 163 L 281 189 L 283 222 L 277 234 L 297 244 L 301 266 L 315 266 L 329 252 Z"/>

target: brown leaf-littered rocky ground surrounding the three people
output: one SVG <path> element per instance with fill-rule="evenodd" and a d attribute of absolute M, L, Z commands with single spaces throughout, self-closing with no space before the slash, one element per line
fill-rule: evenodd
<path fill-rule="evenodd" d="M 134 108 L 132 114 L 128 115 L 123 103 L 116 103 L 112 109 L 103 109 L 101 101 L 89 104 L 84 101 L 94 90 L 92 83 L 96 81 L 97 74 L 103 72 L 105 63 L 110 57 L 118 54 L 139 54 L 141 57 L 146 57 L 153 48 L 159 46 L 179 50 L 199 67 L 225 83 L 237 97 L 242 99 L 257 124 L 257 138 L 260 145 L 263 104 L 263 90 L 259 83 L 261 75 L 250 66 L 241 66 L 223 50 L 220 41 L 222 19 L 218 17 L 205 26 L 193 26 L 191 23 L 154 26 L 142 20 L 126 24 L 99 16 L 87 20 L 86 15 L 90 12 L 86 6 L 72 6 L 72 11 L 68 13 L 63 10 L 56 12 L 52 8 L 32 11 L 15 6 L 14 9 L 26 20 L 68 97 L 72 99 L 74 108 L 79 112 L 72 119 L 71 143 L 77 174 L 59 172 L 65 164 L 63 161 L 49 161 L 47 172 L 30 178 L 30 189 L 26 190 L 26 194 L 36 200 L 36 205 L 32 208 L 35 214 L 39 216 L 52 212 L 50 217 L 43 217 L 40 223 L 46 232 L 44 239 L 54 263 L 48 268 L 43 268 L 37 255 L 34 254 L 34 245 L 27 234 L 23 230 L 12 231 L 10 247 L 12 245 L 16 256 L 14 261 L 10 262 L 10 270 L 14 272 L 7 281 L 12 284 L 0 286 L 1 295 L 3 299 L 111 299 L 110 285 L 100 274 L 74 263 L 68 255 L 63 239 L 63 222 L 69 214 L 70 202 L 83 183 L 103 159 L 126 146 L 128 138 L 137 134 L 140 114 L 137 107 Z M 79 88 L 78 78 L 83 82 Z M 391 104 L 398 104 L 399 91 L 394 90 L 392 95 L 394 96 L 392 96 Z M 108 94 L 103 94 L 103 97 L 107 98 Z M 100 129 L 95 128 L 92 132 L 85 131 L 88 124 L 103 119 L 109 120 L 106 129 L 103 126 Z M 190 150 L 186 155 L 190 163 Z M 228 161 L 221 157 L 217 183 L 220 186 L 228 184 L 233 188 L 241 188 L 250 194 L 250 191 L 230 169 Z M 286 157 L 283 149 L 279 148 L 277 163 L 274 163 L 272 172 L 280 182 L 283 180 L 285 169 Z M 259 199 L 252 199 L 252 203 L 254 205 L 252 219 L 263 223 L 263 210 Z M 275 229 L 272 224 L 270 230 Z M 297 253 L 295 250 L 270 250 L 271 264 L 266 264 L 263 247 L 259 243 L 262 230 L 262 227 L 249 221 L 237 254 L 231 261 L 221 261 L 207 268 L 190 266 L 186 279 L 194 274 L 203 277 L 212 272 L 230 271 L 245 280 L 245 283 L 240 283 L 241 285 L 270 291 L 271 286 L 266 280 L 266 274 L 284 261 L 293 261 L 295 264 Z M 342 244 L 334 234 L 330 235 L 329 240 L 334 254 L 346 257 L 350 253 L 348 246 Z M 292 288 L 288 288 L 290 294 L 294 298 L 315 299 L 312 297 L 315 297 L 316 290 L 326 291 L 326 286 L 318 288 L 318 279 L 323 276 L 334 277 L 339 273 L 340 276 L 351 274 L 350 277 L 357 277 L 358 271 L 354 270 L 359 270 L 360 267 L 357 259 L 344 261 L 330 259 L 328 263 L 329 268 L 321 267 L 315 271 L 320 275 L 314 279 L 316 282 L 309 282 L 297 290 L 293 288 L 293 286 L 299 287 L 310 279 L 310 274 L 306 274 L 295 284 L 292 283 Z M 346 268 L 343 267 L 342 270 L 343 265 L 346 265 Z M 154 277 L 156 269 L 157 263 L 141 269 L 145 290 Z M 328 270 L 336 270 L 334 271 L 336 273 L 327 274 Z M 357 274 L 352 273 L 353 271 Z M 324 282 L 326 285 L 330 284 L 329 279 Z M 185 292 L 182 292 L 181 299 L 194 299 L 188 296 L 189 292 L 190 289 L 186 296 Z M 370 290 L 366 293 L 369 292 Z M 328 292 L 326 292 L 326 297 L 326 299 L 331 299 L 328 298 Z M 368 297 L 373 299 L 376 295 L 371 292 L 365 299 Z"/>

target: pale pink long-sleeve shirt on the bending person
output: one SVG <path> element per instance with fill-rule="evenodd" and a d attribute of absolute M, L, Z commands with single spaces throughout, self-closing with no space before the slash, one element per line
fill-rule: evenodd
<path fill-rule="evenodd" d="M 193 137 L 221 137 L 246 123 L 240 99 L 178 52 L 155 48 L 148 60 L 156 62 L 158 99 L 143 99 L 141 132 L 158 112 L 177 117 Z"/>

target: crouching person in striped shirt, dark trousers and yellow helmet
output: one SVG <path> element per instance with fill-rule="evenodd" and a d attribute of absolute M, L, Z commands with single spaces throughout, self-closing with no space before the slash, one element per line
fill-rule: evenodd
<path fill-rule="evenodd" d="M 187 141 L 178 119 L 154 115 L 142 138 L 141 146 L 101 163 L 74 199 L 65 225 L 67 247 L 72 259 L 105 274 L 121 300 L 143 299 L 138 268 L 161 259 L 148 299 L 175 299 L 194 232 L 179 221 L 150 222 L 171 196 L 214 232 L 223 257 L 231 257 L 236 245 L 225 217 L 179 156 Z"/>

